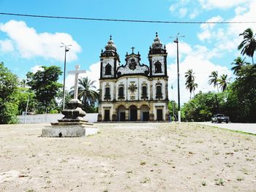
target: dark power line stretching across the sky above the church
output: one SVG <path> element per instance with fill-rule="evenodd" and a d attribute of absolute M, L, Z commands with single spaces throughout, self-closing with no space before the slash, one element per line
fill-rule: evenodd
<path fill-rule="evenodd" d="M 126 20 L 126 19 L 108 19 L 108 18 L 77 18 L 51 15 L 29 15 L 10 12 L 0 12 L 0 15 L 12 15 L 30 18 L 54 18 L 68 20 L 97 20 L 97 21 L 113 21 L 113 22 L 132 22 L 132 23 L 173 23 L 173 24 L 241 24 L 256 23 L 256 21 L 174 21 L 174 20 Z"/>

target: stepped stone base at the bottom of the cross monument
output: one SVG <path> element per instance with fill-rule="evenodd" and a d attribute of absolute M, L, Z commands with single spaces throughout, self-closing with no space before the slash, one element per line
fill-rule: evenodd
<path fill-rule="evenodd" d="M 42 128 L 42 137 L 86 137 L 97 134 L 98 128 L 85 121 L 63 121 L 51 123 L 52 126 Z"/>

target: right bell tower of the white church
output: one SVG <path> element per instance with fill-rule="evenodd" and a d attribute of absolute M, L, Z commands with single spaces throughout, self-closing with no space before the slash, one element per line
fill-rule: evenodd
<path fill-rule="evenodd" d="M 149 47 L 148 61 L 151 77 L 167 77 L 167 52 L 156 33 L 152 47 Z"/>

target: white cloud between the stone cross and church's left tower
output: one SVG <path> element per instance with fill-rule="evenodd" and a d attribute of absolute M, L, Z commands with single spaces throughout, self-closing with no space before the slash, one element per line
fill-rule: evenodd
<path fill-rule="evenodd" d="M 80 65 L 80 70 L 83 70 L 83 66 Z M 75 66 L 74 66 L 75 69 Z M 91 64 L 89 66 L 89 70 L 86 70 L 86 73 L 79 74 L 80 77 L 88 77 L 89 80 L 95 81 L 94 85 L 97 89 L 99 89 L 99 75 L 100 75 L 100 62 L 97 62 L 95 64 Z M 66 88 L 69 91 L 72 86 L 75 84 L 75 76 L 73 74 L 68 74 L 66 78 Z"/>

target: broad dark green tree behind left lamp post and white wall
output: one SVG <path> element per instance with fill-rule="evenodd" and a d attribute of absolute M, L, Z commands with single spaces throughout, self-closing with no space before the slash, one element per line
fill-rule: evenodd
<path fill-rule="evenodd" d="M 56 96 L 59 93 L 62 84 L 57 82 L 59 75 L 62 74 L 59 66 L 42 66 L 42 71 L 36 73 L 28 72 L 27 85 L 34 91 L 36 99 L 39 102 L 37 112 L 44 113 L 56 110 Z"/>

